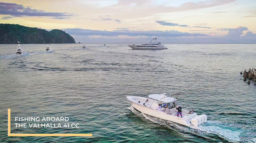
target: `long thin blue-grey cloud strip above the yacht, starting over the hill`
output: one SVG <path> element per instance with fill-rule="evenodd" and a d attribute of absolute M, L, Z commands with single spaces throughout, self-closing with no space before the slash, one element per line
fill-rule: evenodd
<path fill-rule="evenodd" d="M 164 37 L 190 37 L 190 36 L 207 36 L 207 34 L 200 33 L 187 33 L 187 32 L 179 32 L 179 31 L 129 31 L 129 30 L 114 30 L 114 31 L 101 31 L 101 30 L 90 30 L 90 29 L 80 29 L 80 28 L 67 28 L 63 29 L 66 33 L 70 35 L 100 35 L 100 36 L 119 36 L 119 35 L 127 35 L 127 36 L 164 36 Z"/>

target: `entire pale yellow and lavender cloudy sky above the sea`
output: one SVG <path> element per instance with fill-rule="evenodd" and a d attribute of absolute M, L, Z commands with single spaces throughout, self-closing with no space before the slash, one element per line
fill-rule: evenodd
<path fill-rule="evenodd" d="M 0 0 L 0 23 L 81 43 L 256 43 L 255 0 Z"/>

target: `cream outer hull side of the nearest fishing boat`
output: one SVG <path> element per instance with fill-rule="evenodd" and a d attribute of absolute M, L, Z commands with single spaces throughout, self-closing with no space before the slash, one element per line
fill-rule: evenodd
<path fill-rule="evenodd" d="M 140 111 L 144 114 L 154 116 L 154 117 L 157 117 L 157 118 L 161 118 L 161 119 L 164 119 L 164 120 L 167 120 L 167 121 L 172 121 L 172 122 L 175 122 L 175 123 L 178 123 L 178 124 L 185 125 L 185 126 L 189 127 L 189 126 L 191 126 L 191 123 L 190 123 L 191 119 L 197 116 L 196 113 L 183 115 L 183 118 L 177 117 L 176 115 L 168 115 L 165 112 L 157 111 L 156 109 L 138 104 L 138 103 L 132 101 L 131 97 L 136 97 L 136 96 L 126 96 L 126 99 L 131 102 L 131 105 L 132 105 L 133 108 L 137 109 L 138 111 Z M 147 98 L 144 98 L 144 97 L 140 97 L 140 98 L 144 101 L 146 101 L 146 99 L 147 99 Z"/>

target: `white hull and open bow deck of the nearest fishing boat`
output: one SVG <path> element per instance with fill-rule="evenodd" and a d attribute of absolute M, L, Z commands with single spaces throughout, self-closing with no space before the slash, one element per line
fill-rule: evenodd
<path fill-rule="evenodd" d="M 138 111 L 140 111 L 144 114 L 154 116 L 157 118 L 161 118 L 161 119 L 164 119 L 167 121 L 172 121 L 172 122 L 175 122 L 175 123 L 178 123 L 181 125 L 185 125 L 188 127 L 191 126 L 191 120 L 193 118 L 197 117 L 196 113 L 187 114 L 189 111 L 186 111 L 183 109 L 182 109 L 182 118 L 180 118 L 176 115 L 176 108 L 171 109 L 171 112 L 173 113 L 173 115 L 168 115 L 165 112 L 157 111 L 156 110 L 157 103 L 155 101 L 153 101 L 152 99 L 148 99 L 148 98 L 144 98 L 144 97 L 137 97 L 137 96 L 126 96 L 126 99 L 131 102 L 131 105 L 133 108 L 137 109 Z M 146 106 L 144 106 L 143 103 L 145 103 L 146 99 L 148 99 L 148 103 L 146 103 Z M 138 101 L 140 101 L 141 103 L 138 103 Z M 151 104 L 152 102 L 153 102 L 153 104 Z M 206 120 L 207 120 L 207 118 L 206 118 Z M 202 123 L 204 123 L 204 121 Z"/>

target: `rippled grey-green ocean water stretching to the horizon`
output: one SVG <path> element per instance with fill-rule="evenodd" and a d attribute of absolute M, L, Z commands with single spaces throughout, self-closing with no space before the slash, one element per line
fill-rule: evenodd
<path fill-rule="evenodd" d="M 240 72 L 256 68 L 256 44 L 128 43 L 0 45 L 0 142 L 256 142 L 256 86 Z M 50 46 L 52 52 L 44 52 Z M 145 115 L 125 96 L 179 96 L 183 109 L 206 114 L 192 129 Z M 15 116 L 67 116 L 79 128 L 15 128 L 11 133 L 92 133 L 92 137 L 8 137 Z"/>

